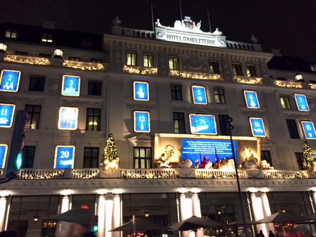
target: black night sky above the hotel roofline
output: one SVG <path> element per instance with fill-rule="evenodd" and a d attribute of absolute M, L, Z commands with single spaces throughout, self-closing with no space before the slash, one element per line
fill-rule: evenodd
<path fill-rule="evenodd" d="M 0 23 L 42 26 L 56 21 L 56 28 L 110 33 L 115 16 L 122 27 L 152 30 L 154 21 L 172 26 L 180 20 L 179 0 L 0 0 Z M 316 61 L 316 0 L 181 0 L 182 16 L 190 16 L 201 30 L 219 28 L 227 40 L 258 39 L 265 52 L 280 49 L 283 56 Z"/>

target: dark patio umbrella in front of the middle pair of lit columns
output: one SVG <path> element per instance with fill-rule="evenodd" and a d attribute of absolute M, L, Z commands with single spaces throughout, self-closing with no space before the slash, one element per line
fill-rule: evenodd
<path fill-rule="evenodd" d="M 190 231 L 196 230 L 201 227 L 219 227 L 226 226 L 225 223 L 212 221 L 210 219 L 192 216 L 188 219 L 180 221 L 176 224 L 169 226 L 173 231 Z"/>

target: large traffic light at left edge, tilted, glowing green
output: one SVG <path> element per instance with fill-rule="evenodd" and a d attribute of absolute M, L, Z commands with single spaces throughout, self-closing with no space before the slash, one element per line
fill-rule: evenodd
<path fill-rule="evenodd" d="M 9 149 L 9 158 L 6 163 L 5 177 L 15 179 L 19 175 L 22 165 L 22 149 L 24 147 L 24 135 L 28 124 L 28 113 L 19 110 L 15 114 L 13 133 Z"/>

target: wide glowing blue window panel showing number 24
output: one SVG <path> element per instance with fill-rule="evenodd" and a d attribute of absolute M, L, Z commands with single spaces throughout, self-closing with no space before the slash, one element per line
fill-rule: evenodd
<path fill-rule="evenodd" d="M 189 115 L 192 134 L 216 135 L 216 122 L 213 115 Z"/>

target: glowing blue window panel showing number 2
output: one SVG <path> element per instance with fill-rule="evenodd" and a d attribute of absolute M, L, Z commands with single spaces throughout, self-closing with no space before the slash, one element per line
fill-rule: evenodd
<path fill-rule="evenodd" d="M 2 70 L 0 77 L 0 91 L 17 92 L 19 89 L 21 72 Z"/>

